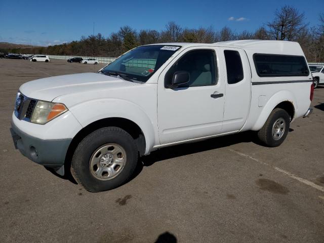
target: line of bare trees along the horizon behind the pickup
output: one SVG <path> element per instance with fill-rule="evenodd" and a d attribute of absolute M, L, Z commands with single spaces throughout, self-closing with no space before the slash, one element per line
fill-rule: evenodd
<path fill-rule="evenodd" d="M 79 41 L 41 47 L 8 50 L 14 53 L 34 53 L 48 55 L 117 57 L 124 52 L 153 43 L 194 42 L 215 43 L 239 39 L 270 39 L 298 42 L 309 62 L 324 62 L 324 13 L 318 16 L 318 24 L 309 26 L 305 14 L 292 6 L 284 6 L 274 12 L 272 21 L 263 23 L 255 31 L 235 32 L 225 26 L 220 30 L 213 27 L 183 28 L 171 21 L 161 31 L 123 26 L 117 32 L 105 37 L 82 36 Z"/>

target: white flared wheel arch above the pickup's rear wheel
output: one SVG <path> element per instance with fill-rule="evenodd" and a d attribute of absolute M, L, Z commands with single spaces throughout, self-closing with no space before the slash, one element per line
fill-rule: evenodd
<path fill-rule="evenodd" d="M 292 92 L 288 91 L 288 90 L 281 90 L 277 93 L 275 93 L 274 95 L 272 95 L 269 100 L 267 101 L 267 103 L 263 106 L 263 109 L 256 121 L 256 123 L 254 124 L 254 126 L 252 127 L 253 131 L 259 131 L 263 125 L 265 124 L 266 120 L 268 119 L 271 111 L 274 109 L 274 107 L 276 107 L 278 104 L 280 104 L 281 102 L 284 101 L 289 101 L 290 103 L 293 104 L 294 109 L 295 109 L 295 114 L 297 113 L 297 103 L 296 103 L 296 98 L 293 95 Z"/>

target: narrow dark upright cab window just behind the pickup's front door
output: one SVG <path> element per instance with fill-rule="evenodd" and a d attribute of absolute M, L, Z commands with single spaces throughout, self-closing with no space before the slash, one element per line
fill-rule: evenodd
<path fill-rule="evenodd" d="M 227 83 L 236 84 L 244 78 L 242 61 L 237 51 L 225 50 Z"/>

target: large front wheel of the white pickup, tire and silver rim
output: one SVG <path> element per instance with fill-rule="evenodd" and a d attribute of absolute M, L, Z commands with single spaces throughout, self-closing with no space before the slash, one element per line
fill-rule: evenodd
<path fill-rule="evenodd" d="M 107 160 L 103 160 L 107 156 Z M 75 181 L 90 192 L 111 190 L 129 180 L 137 160 L 138 149 L 129 133 L 116 127 L 101 128 L 89 134 L 76 147 L 71 161 L 71 174 Z M 115 163 L 123 164 L 118 164 L 118 168 Z"/>

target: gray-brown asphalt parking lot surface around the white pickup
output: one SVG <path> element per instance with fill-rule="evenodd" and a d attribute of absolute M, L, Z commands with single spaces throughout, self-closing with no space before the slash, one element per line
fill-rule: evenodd
<path fill-rule="evenodd" d="M 90 193 L 14 149 L 19 86 L 99 65 L 0 59 L 0 242 L 324 242 L 324 86 L 280 147 L 253 133 L 164 148 Z"/>

